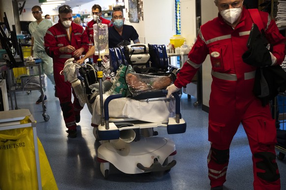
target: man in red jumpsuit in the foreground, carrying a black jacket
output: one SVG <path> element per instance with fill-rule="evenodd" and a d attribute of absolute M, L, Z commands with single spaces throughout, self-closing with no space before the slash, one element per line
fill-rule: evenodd
<path fill-rule="evenodd" d="M 253 94 L 257 67 L 243 62 L 242 55 L 253 24 L 243 0 L 215 0 L 219 15 L 203 24 L 197 41 L 173 85 L 168 97 L 191 82 L 206 56 L 212 64 L 212 85 L 209 100 L 207 158 L 208 177 L 212 190 L 223 190 L 229 164 L 229 146 L 242 123 L 253 154 L 255 190 L 280 190 L 280 174 L 275 161 L 276 127 L 269 105 L 263 107 Z M 260 12 L 266 38 L 273 45 L 271 65 L 285 58 L 286 39 L 268 13 Z M 271 67 L 271 66 L 269 66 Z"/>

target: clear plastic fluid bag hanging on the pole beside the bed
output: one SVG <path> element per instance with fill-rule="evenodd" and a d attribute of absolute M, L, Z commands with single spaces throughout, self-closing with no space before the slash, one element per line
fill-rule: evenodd
<path fill-rule="evenodd" d="M 108 25 L 107 24 L 93 24 L 93 39 L 94 39 L 94 55 L 108 55 Z M 99 50 L 98 50 L 99 49 Z"/>

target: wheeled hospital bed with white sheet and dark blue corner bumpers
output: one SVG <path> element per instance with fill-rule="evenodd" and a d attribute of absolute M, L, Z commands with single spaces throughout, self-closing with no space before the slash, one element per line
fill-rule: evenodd
<path fill-rule="evenodd" d="M 117 51 L 118 48 L 114 50 Z M 143 53 L 146 51 L 143 50 Z M 122 56 L 124 53 L 120 52 L 118 55 Z M 167 56 L 166 59 L 168 63 Z M 111 63 L 113 71 L 117 70 L 125 59 L 120 60 L 117 59 L 115 64 Z M 74 62 L 66 65 L 68 64 L 79 67 Z M 73 73 L 71 67 L 63 70 L 66 78 L 69 73 Z M 166 69 L 160 66 L 159 70 L 162 71 L 163 68 Z M 97 76 L 98 72 L 100 71 L 97 71 Z M 82 92 L 85 94 L 88 85 L 81 79 L 82 75 L 79 72 L 74 73 L 74 78 L 80 78 Z M 74 83 L 71 79 L 69 81 Z M 166 128 L 168 134 L 186 131 L 186 122 L 180 114 L 180 96 L 174 93 L 172 98 L 167 98 L 166 90 L 156 90 L 142 93 L 141 97 L 146 95 L 145 99 L 134 99 L 122 97 L 122 93 L 104 94 L 102 84 L 103 81 L 99 77 L 99 95 L 90 103 L 92 95 L 88 97 L 85 94 L 83 103 L 87 103 L 92 114 L 93 134 L 96 140 L 101 142 L 97 149 L 97 161 L 100 162 L 104 178 L 109 176 L 110 164 L 128 174 L 170 171 L 176 164 L 173 159 L 176 154 L 175 143 L 169 138 L 159 137 L 155 129 Z M 77 92 L 79 91 L 76 91 L 76 94 Z"/>

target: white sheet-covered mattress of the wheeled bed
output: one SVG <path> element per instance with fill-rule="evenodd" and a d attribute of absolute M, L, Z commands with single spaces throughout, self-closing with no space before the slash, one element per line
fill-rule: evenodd
<path fill-rule="evenodd" d="M 104 94 L 105 100 L 108 95 Z M 109 103 L 110 118 L 128 118 L 147 122 L 168 121 L 175 115 L 175 100 L 139 101 L 127 97 L 113 99 Z M 91 123 L 100 124 L 100 99 L 96 97 L 92 104 Z"/>

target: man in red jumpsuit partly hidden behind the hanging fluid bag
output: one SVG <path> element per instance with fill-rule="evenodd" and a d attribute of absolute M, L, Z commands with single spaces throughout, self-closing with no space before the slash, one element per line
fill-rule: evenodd
<path fill-rule="evenodd" d="M 92 45 L 94 45 L 93 24 L 97 23 L 97 19 L 100 19 L 102 24 L 107 24 L 108 27 L 111 27 L 112 23 L 111 23 L 110 20 L 107 20 L 107 19 L 104 19 L 104 18 L 101 17 L 102 10 L 101 10 L 101 6 L 100 5 L 94 4 L 92 6 L 92 8 L 91 8 L 91 12 L 92 12 L 93 19 L 87 23 L 86 34 L 89 37 L 89 40 L 92 43 Z M 98 55 L 94 55 L 94 53 L 93 53 L 93 63 L 96 63 L 97 59 L 98 59 Z"/>

